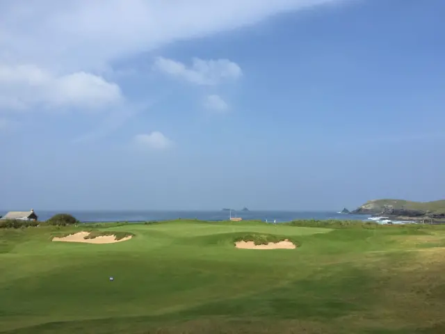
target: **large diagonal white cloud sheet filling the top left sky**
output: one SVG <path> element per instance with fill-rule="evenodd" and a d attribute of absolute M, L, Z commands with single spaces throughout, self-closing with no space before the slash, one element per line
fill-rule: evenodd
<path fill-rule="evenodd" d="M 0 1 L 0 62 L 91 72 L 177 40 L 343 0 Z"/>

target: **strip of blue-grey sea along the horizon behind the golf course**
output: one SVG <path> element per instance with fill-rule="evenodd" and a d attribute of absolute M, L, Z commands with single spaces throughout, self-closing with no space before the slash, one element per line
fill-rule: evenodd
<path fill-rule="evenodd" d="M 60 211 L 40 211 L 35 209 L 39 221 L 46 221 Z M 199 219 L 201 221 L 227 221 L 229 212 L 219 211 L 65 211 L 84 223 L 115 222 L 115 221 L 168 221 L 177 218 Z M 6 212 L 0 212 L 3 216 Z M 342 219 L 366 221 L 369 216 L 362 214 L 339 214 L 337 212 L 291 212 L 291 211 L 232 211 L 232 216 L 243 220 L 259 220 L 277 223 L 296 219 Z"/>

